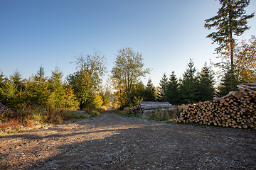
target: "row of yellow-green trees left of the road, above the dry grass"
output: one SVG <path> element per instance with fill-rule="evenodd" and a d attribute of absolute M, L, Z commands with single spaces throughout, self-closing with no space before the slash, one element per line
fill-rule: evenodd
<path fill-rule="evenodd" d="M 50 78 L 46 77 L 43 66 L 29 79 L 23 79 L 16 70 L 10 77 L 0 74 L 1 103 L 11 108 L 21 105 L 50 106 L 53 108 L 100 108 L 110 101 L 110 89 L 100 88 L 106 72 L 105 57 L 95 55 L 75 57 L 78 71 L 69 74 L 63 81 L 63 72 L 55 67 Z"/>

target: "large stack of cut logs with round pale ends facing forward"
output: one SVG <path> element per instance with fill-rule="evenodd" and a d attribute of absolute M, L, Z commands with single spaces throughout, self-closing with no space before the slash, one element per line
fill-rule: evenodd
<path fill-rule="evenodd" d="M 188 106 L 178 122 L 256 130 L 256 82 L 238 85 L 238 89 L 222 98 Z"/>

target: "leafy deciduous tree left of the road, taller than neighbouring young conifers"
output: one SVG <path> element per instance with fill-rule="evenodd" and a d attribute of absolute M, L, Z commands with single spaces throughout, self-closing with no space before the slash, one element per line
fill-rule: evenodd
<path fill-rule="evenodd" d="M 75 57 L 78 72 L 68 76 L 68 83 L 73 87 L 80 108 L 90 108 L 95 101 L 95 93 L 102 82 L 107 68 L 106 59 L 100 52 L 95 55 L 78 55 Z"/>

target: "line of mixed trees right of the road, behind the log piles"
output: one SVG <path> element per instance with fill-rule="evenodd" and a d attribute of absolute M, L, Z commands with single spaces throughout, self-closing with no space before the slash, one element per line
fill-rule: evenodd
<path fill-rule="evenodd" d="M 119 50 L 111 71 L 112 84 L 116 90 L 114 105 L 124 108 L 136 106 L 139 101 L 168 101 L 175 105 L 197 103 L 212 100 L 215 96 L 225 96 L 230 91 L 238 91 L 238 84 L 255 82 L 255 36 L 235 43 L 233 69 L 230 69 L 230 53 L 226 50 L 219 53 L 220 62 L 212 63 L 218 67 L 218 72 L 213 72 L 212 67 L 206 63 L 198 71 L 191 59 L 181 78 L 178 79 L 175 72 L 171 72 L 169 78 L 164 74 L 159 87 L 154 87 L 151 79 L 146 86 L 140 80 L 150 72 L 149 68 L 143 68 L 142 55 L 132 48 L 123 48 Z"/>

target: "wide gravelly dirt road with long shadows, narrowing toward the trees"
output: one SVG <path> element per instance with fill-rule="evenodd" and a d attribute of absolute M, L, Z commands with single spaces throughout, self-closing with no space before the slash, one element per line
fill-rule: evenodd
<path fill-rule="evenodd" d="M 256 132 L 104 113 L 1 137 L 0 169 L 256 169 Z"/>

